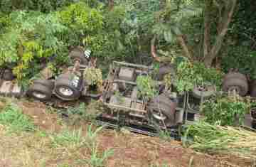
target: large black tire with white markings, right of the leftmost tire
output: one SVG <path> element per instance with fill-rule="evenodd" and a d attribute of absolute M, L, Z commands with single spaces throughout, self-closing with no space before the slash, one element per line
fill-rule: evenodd
<path fill-rule="evenodd" d="M 70 91 L 69 93 L 72 93 L 70 95 L 65 95 L 62 91 L 62 89 L 66 89 L 68 91 Z M 72 84 L 72 81 L 69 80 L 68 78 L 58 78 L 58 80 L 56 80 L 55 82 L 55 87 L 54 87 L 54 92 L 55 95 L 57 97 L 59 97 L 60 99 L 63 99 L 65 101 L 71 101 L 71 100 L 75 100 L 78 99 L 81 95 L 80 92 L 80 86 L 75 87 Z"/>

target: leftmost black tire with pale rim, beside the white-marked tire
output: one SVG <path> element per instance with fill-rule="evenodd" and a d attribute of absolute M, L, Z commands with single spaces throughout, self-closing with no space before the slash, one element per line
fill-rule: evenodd
<path fill-rule="evenodd" d="M 53 92 L 49 87 L 46 87 L 41 84 L 33 84 L 29 87 L 28 95 L 33 97 L 34 99 L 38 99 L 40 101 L 47 101 L 51 98 Z"/>

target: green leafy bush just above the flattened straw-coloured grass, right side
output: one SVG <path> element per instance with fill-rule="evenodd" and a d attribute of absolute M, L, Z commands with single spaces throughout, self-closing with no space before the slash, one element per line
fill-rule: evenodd
<path fill-rule="evenodd" d="M 203 114 L 206 122 L 221 125 L 242 124 L 245 114 L 250 112 L 250 102 L 238 95 L 220 96 L 206 100 L 203 104 Z"/>

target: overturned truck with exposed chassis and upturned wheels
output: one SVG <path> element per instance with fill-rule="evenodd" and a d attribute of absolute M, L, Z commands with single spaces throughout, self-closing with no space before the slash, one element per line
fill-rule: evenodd
<path fill-rule="evenodd" d="M 100 99 L 105 109 L 97 117 L 98 122 L 112 127 L 125 126 L 131 131 L 154 135 L 161 129 L 177 133 L 179 127 L 200 118 L 203 100 L 213 95 L 214 87 L 195 87 L 192 92 L 179 95 L 165 89 L 163 75 L 174 72 L 169 66 L 159 69 L 154 78 L 157 95 L 144 98 L 137 87 L 137 77 L 151 75 L 151 66 L 114 61 L 110 65 L 107 79 L 100 90 L 90 85 L 85 77 L 85 70 L 95 68 L 95 60 L 87 58 L 81 49 L 70 52 L 73 66 L 64 70 L 58 77 L 46 68 L 41 71 L 41 78 L 33 80 L 24 92 L 12 80 L 1 80 L 0 94 L 15 97 L 33 97 L 42 102 L 54 100 L 74 101 L 78 99 Z M 251 93 L 255 88 L 251 86 Z M 247 78 L 238 72 L 230 72 L 223 78 L 223 91 L 235 92 L 245 96 L 249 91 Z M 253 95 L 252 95 L 253 96 Z M 252 110 L 246 116 L 245 124 L 252 126 L 255 113 Z"/>

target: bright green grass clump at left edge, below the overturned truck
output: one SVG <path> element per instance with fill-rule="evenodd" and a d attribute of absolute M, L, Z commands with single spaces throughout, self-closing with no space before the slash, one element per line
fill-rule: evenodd
<path fill-rule="evenodd" d="M 22 110 L 14 103 L 6 104 L 0 112 L 0 124 L 9 126 L 11 131 L 35 131 L 36 127 L 31 119 L 22 113 Z"/>

